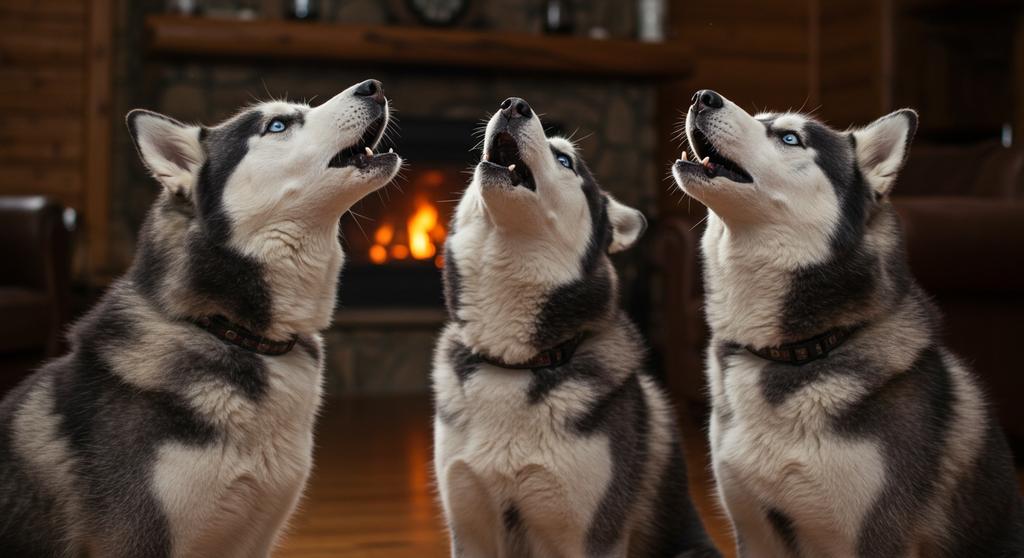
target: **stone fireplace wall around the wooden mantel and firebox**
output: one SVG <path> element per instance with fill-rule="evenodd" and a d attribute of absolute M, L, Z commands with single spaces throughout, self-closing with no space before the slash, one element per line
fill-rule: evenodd
<path fill-rule="evenodd" d="M 541 28 L 542 0 L 477 0 L 478 25 L 503 31 L 537 32 Z M 252 5 L 261 16 L 280 13 L 281 0 L 260 2 L 207 2 L 211 9 Z M 324 18 L 360 24 L 388 22 L 385 2 L 374 0 L 329 1 Z M 611 36 L 626 37 L 634 25 L 633 2 L 604 0 L 577 2 L 581 29 L 601 23 Z M 427 68 L 354 67 L 334 62 L 216 61 L 158 58 L 144 48 L 143 19 L 159 12 L 158 0 L 120 0 L 116 75 L 116 113 L 124 115 L 141 106 L 185 122 L 214 124 L 246 104 L 269 97 L 308 100 L 315 104 L 366 78 L 377 78 L 403 116 L 455 120 L 481 120 L 508 96 L 527 99 L 539 112 L 572 131 L 604 188 L 627 204 L 650 215 L 656 189 L 665 187 L 663 169 L 653 161 L 654 91 L 649 84 L 626 80 L 579 79 L 522 72 L 443 71 Z M 585 31 L 581 31 L 585 33 Z M 157 184 L 137 161 L 123 125 L 115 129 L 115 183 L 112 192 L 113 254 L 122 267 L 130 262 L 135 231 L 153 202 Z M 467 151 L 476 138 L 466 138 Z M 400 135 L 397 139 L 400 153 Z M 415 162 L 412 162 L 415 164 Z M 350 217 L 346 217 L 350 218 Z M 629 257 L 620 260 L 628 283 L 635 274 Z M 335 331 L 331 347 L 329 385 L 336 393 L 386 392 L 426 389 L 425 371 L 435 331 L 395 334 Z M 383 336 L 383 337 L 382 337 Z M 409 350 L 388 351 L 382 347 Z M 360 347 L 365 347 L 360 353 Z M 404 358 L 402 358 L 404 355 Z M 384 362 L 388 360 L 388 362 Z M 391 362 L 395 360 L 395 362 Z M 370 367 L 397 370 L 418 362 L 406 377 L 418 381 L 389 383 Z M 375 364 L 376 363 L 376 364 Z M 394 373 L 398 374 L 398 373 Z M 389 387 L 390 386 L 390 387 Z"/>

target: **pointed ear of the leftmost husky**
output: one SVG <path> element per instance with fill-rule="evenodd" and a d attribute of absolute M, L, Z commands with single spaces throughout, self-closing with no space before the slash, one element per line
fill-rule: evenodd
<path fill-rule="evenodd" d="M 139 109 L 128 113 L 126 121 L 138 156 L 153 177 L 176 196 L 190 196 L 205 157 L 201 128 Z"/>

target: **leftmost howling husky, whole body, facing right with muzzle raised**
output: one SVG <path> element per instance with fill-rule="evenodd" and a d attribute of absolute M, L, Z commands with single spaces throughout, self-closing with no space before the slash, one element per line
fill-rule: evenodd
<path fill-rule="evenodd" d="M 268 556 L 309 474 L 339 219 L 397 172 L 375 80 L 215 127 L 132 111 L 134 263 L 0 403 L 5 556 Z M 292 350 L 294 348 L 294 350 Z"/>

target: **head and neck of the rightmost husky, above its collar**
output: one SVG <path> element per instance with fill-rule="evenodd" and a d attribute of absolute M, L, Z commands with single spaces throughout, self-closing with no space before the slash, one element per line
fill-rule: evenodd
<path fill-rule="evenodd" d="M 751 116 L 711 90 L 686 116 L 679 186 L 709 209 L 713 329 L 760 346 L 862 321 L 900 291 L 889 194 L 918 115 L 837 131 L 795 113 Z"/>

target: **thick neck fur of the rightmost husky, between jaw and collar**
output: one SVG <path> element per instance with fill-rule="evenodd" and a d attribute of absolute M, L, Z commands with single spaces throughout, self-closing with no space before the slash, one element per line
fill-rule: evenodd
<path fill-rule="evenodd" d="M 863 235 L 730 227 L 712 213 L 701 247 L 706 310 L 723 341 L 768 347 L 891 313 L 908 292 L 899 223 L 883 201 Z"/>

